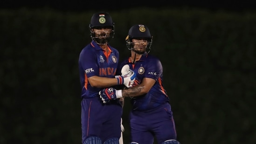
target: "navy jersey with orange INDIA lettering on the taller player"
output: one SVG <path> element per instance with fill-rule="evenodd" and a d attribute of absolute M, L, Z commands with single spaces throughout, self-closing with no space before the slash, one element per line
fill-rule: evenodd
<path fill-rule="evenodd" d="M 118 50 L 108 45 L 109 52 L 104 50 L 95 41 L 85 46 L 79 56 L 79 75 L 82 87 L 82 98 L 99 96 L 101 88 L 91 87 L 88 78 L 90 76 L 102 76 L 114 78 L 118 67 Z"/>

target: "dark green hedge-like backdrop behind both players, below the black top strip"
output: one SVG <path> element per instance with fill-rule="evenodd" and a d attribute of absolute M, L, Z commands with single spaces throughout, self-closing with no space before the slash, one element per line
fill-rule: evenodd
<path fill-rule="evenodd" d="M 95 12 L 0 10 L 0 144 L 81 144 L 78 57 Z M 129 28 L 150 28 L 181 144 L 256 143 L 255 12 L 109 13 L 122 60 Z"/>

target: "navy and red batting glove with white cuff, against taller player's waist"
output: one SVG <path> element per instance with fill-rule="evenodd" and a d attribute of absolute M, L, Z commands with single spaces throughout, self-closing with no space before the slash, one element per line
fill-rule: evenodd
<path fill-rule="evenodd" d="M 99 96 L 103 103 L 107 103 L 110 100 L 115 100 L 117 98 L 121 98 L 122 96 L 122 90 L 116 90 L 113 88 L 106 88 L 99 91 Z"/>

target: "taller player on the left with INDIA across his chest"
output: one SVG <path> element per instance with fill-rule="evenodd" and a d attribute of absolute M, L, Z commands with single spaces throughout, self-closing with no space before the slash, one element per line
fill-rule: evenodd
<path fill-rule="evenodd" d="M 115 32 L 110 14 L 93 14 L 89 28 L 92 41 L 82 49 L 78 60 L 82 144 L 119 144 L 123 97 L 104 103 L 98 93 L 116 85 L 131 87 L 135 73 L 128 68 L 124 70 L 125 74 L 115 76 L 119 53 L 109 44 Z"/>

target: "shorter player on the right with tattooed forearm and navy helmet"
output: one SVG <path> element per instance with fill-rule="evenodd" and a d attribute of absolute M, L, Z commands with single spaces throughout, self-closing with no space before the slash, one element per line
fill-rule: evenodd
<path fill-rule="evenodd" d="M 153 144 L 154 137 L 158 144 L 180 144 L 176 140 L 173 112 L 164 89 L 162 64 L 157 57 L 149 55 L 152 35 L 148 27 L 132 26 L 125 41 L 131 55 L 120 63 L 120 67 L 128 65 L 136 73 L 133 86 L 114 90 L 111 97 L 101 91 L 100 96 L 106 102 L 121 96 L 131 98 L 130 144 Z"/>

